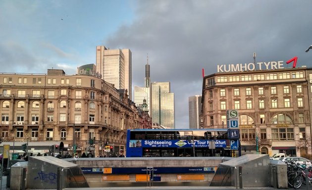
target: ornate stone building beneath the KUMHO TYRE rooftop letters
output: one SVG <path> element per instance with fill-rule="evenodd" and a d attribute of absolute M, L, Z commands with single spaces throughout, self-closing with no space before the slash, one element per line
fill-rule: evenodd
<path fill-rule="evenodd" d="M 239 112 L 242 154 L 311 153 L 311 80 L 302 68 L 220 72 L 204 77 L 202 127 L 226 128 Z"/>

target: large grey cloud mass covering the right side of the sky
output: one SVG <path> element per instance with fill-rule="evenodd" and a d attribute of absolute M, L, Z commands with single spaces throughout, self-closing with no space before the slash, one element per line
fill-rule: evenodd
<path fill-rule="evenodd" d="M 139 0 L 134 20 L 106 41 L 130 48 L 133 82 L 142 84 L 149 53 L 151 81 L 171 82 L 176 128 L 188 127 L 187 96 L 200 95 L 202 68 L 257 60 L 288 60 L 312 66 L 304 54 L 312 44 L 312 1 L 291 0 Z M 183 110 L 183 111 L 180 111 Z"/>

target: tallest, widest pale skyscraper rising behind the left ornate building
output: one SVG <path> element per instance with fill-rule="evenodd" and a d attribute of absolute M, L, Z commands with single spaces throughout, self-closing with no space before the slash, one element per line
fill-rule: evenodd
<path fill-rule="evenodd" d="M 107 49 L 97 46 L 97 72 L 116 89 L 127 89 L 132 94 L 132 53 L 130 49 Z"/>

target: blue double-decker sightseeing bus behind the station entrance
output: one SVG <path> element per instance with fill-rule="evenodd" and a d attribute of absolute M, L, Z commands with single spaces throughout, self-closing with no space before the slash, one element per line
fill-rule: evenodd
<path fill-rule="evenodd" d="M 126 157 L 231 156 L 227 131 L 227 129 L 128 130 Z"/>

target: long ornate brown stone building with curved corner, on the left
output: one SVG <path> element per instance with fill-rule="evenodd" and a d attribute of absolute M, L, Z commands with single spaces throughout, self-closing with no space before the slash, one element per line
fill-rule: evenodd
<path fill-rule="evenodd" d="M 0 81 L 1 146 L 9 144 L 11 153 L 21 154 L 21 145 L 28 143 L 34 154 L 120 154 L 127 129 L 152 126 L 143 121 L 127 90 L 117 90 L 96 75 L 68 76 L 48 69 L 48 74 L 2 73 Z M 105 153 L 105 145 L 112 151 Z"/>

